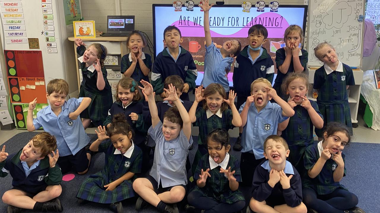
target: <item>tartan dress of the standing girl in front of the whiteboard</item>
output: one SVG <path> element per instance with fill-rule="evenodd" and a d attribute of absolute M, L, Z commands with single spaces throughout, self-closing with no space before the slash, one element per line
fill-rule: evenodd
<path fill-rule="evenodd" d="M 355 85 L 352 69 L 340 61 L 337 70 L 332 70 L 325 64 L 315 71 L 313 89 L 320 89 L 317 104 L 324 121 L 322 129 L 315 129 L 319 138 L 322 138 L 323 129 L 332 121 L 347 125 L 352 135 L 347 85 Z"/>

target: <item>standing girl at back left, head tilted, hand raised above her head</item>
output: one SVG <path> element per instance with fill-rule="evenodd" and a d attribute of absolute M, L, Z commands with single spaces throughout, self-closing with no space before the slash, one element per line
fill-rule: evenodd
<path fill-rule="evenodd" d="M 91 98 L 89 107 L 80 115 L 83 127 L 86 129 L 91 122 L 95 126 L 102 125 L 112 105 L 111 86 L 104 67 L 107 49 L 98 43 L 86 47 L 80 38 L 75 39 L 75 44 L 78 46 L 76 52 L 81 56 L 78 60 L 81 62 L 83 76 L 79 97 Z"/>

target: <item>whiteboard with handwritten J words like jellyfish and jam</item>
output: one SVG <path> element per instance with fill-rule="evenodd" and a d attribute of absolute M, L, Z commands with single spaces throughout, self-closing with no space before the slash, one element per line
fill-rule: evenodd
<path fill-rule="evenodd" d="M 329 42 L 336 49 L 339 61 L 351 67 L 361 67 L 363 53 L 363 0 L 310 0 L 308 66 L 321 66 L 314 48 L 321 42 Z"/>

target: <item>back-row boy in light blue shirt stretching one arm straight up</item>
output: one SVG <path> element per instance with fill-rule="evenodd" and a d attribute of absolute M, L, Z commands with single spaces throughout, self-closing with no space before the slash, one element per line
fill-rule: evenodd
<path fill-rule="evenodd" d="M 199 5 L 204 11 L 204 36 L 206 39 L 206 55 L 204 56 L 204 74 L 202 85 L 207 87 L 211 83 L 219 83 L 226 93 L 230 92 L 227 74 L 231 70 L 234 57 L 239 54 L 241 44 L 237 40 L 229 40 L 223 43 L 222 48 L 217 49 L 212 42 L 209 24 L 209 10 L 214 5 L 209 5 L 209 1 Z M 228 97 L 228 96 L 227 96 Z"/>

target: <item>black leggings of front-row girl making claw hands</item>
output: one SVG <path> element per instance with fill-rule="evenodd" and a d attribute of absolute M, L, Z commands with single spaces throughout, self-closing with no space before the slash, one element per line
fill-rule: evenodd
<path fill-rule="evenodd" d="M 219 203 L 210 197 L 203 196 L 199 191 L 190 192 L 187 201 L 193 207 L 204 210 L 204 213 L 232 213 L 242 210 L 245 206 L 245 200 L 239 200 L 233 204 Z"/>

